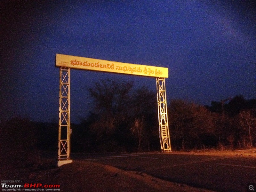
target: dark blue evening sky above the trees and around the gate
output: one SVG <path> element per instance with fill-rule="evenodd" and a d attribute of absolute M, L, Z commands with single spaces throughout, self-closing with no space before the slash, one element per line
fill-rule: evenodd
<path fill-rule="evenodd" d="M 255 1 L 254 1 L 255 2 Z M 167 100 L 255 98 L 250 1 L 1 1 L 0 120 L 58 120 L 56 53 L 169 68 Z M 71 70 L 71 122 L 99 78 L 156 89 L 154 78 Z"/>

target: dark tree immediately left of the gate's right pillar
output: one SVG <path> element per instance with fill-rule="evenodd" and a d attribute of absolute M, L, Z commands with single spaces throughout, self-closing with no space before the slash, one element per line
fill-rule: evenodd
<path fill-rule="evenodd" d="M 150 150 L 150 148 L 158 148 L 156 92 L 143 85 L 132 92 L 131 101 L 130 113 L 132 114 L 133 122 L 131 131 L 138 141 L 138 149 L 148 148 Z"/>

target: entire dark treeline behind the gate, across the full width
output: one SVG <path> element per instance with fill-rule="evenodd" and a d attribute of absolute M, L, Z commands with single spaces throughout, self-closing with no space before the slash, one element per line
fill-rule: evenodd
<path fill-rule="evenodd" d="M 109 79 L 87 90 L 91 113 L 71 124 L 71 152 L 160 151 L 155 91 Z M 256 99 L 238 95 L 211 106 L 171 100 L 168 118 L 173 150 L 256 147 Z M 57 152 L 58 124 L 13 118 L 1 124 L 0 143 L 0 152 L 18 159 L 38 150 Z"/>

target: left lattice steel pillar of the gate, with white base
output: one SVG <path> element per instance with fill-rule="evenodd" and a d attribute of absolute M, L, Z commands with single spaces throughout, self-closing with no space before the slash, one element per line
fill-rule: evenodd
<path fill-rule="evenodd" d="M 70 68 L 60 67 L 58 166 L 70 160 Z"/>

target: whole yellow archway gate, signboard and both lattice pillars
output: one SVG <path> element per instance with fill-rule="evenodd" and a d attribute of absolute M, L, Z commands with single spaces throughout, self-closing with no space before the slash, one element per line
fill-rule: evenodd
<path fill-rule="evenodd" d="M 70 68 L 155 77 L 161 150 L 162 152 L 171 151 L 165 92 L 168 68 L 63 54 L 56 54 L 56 67 L 60 68 L 58 166 L 72 162 L 70 159 Z"/>

